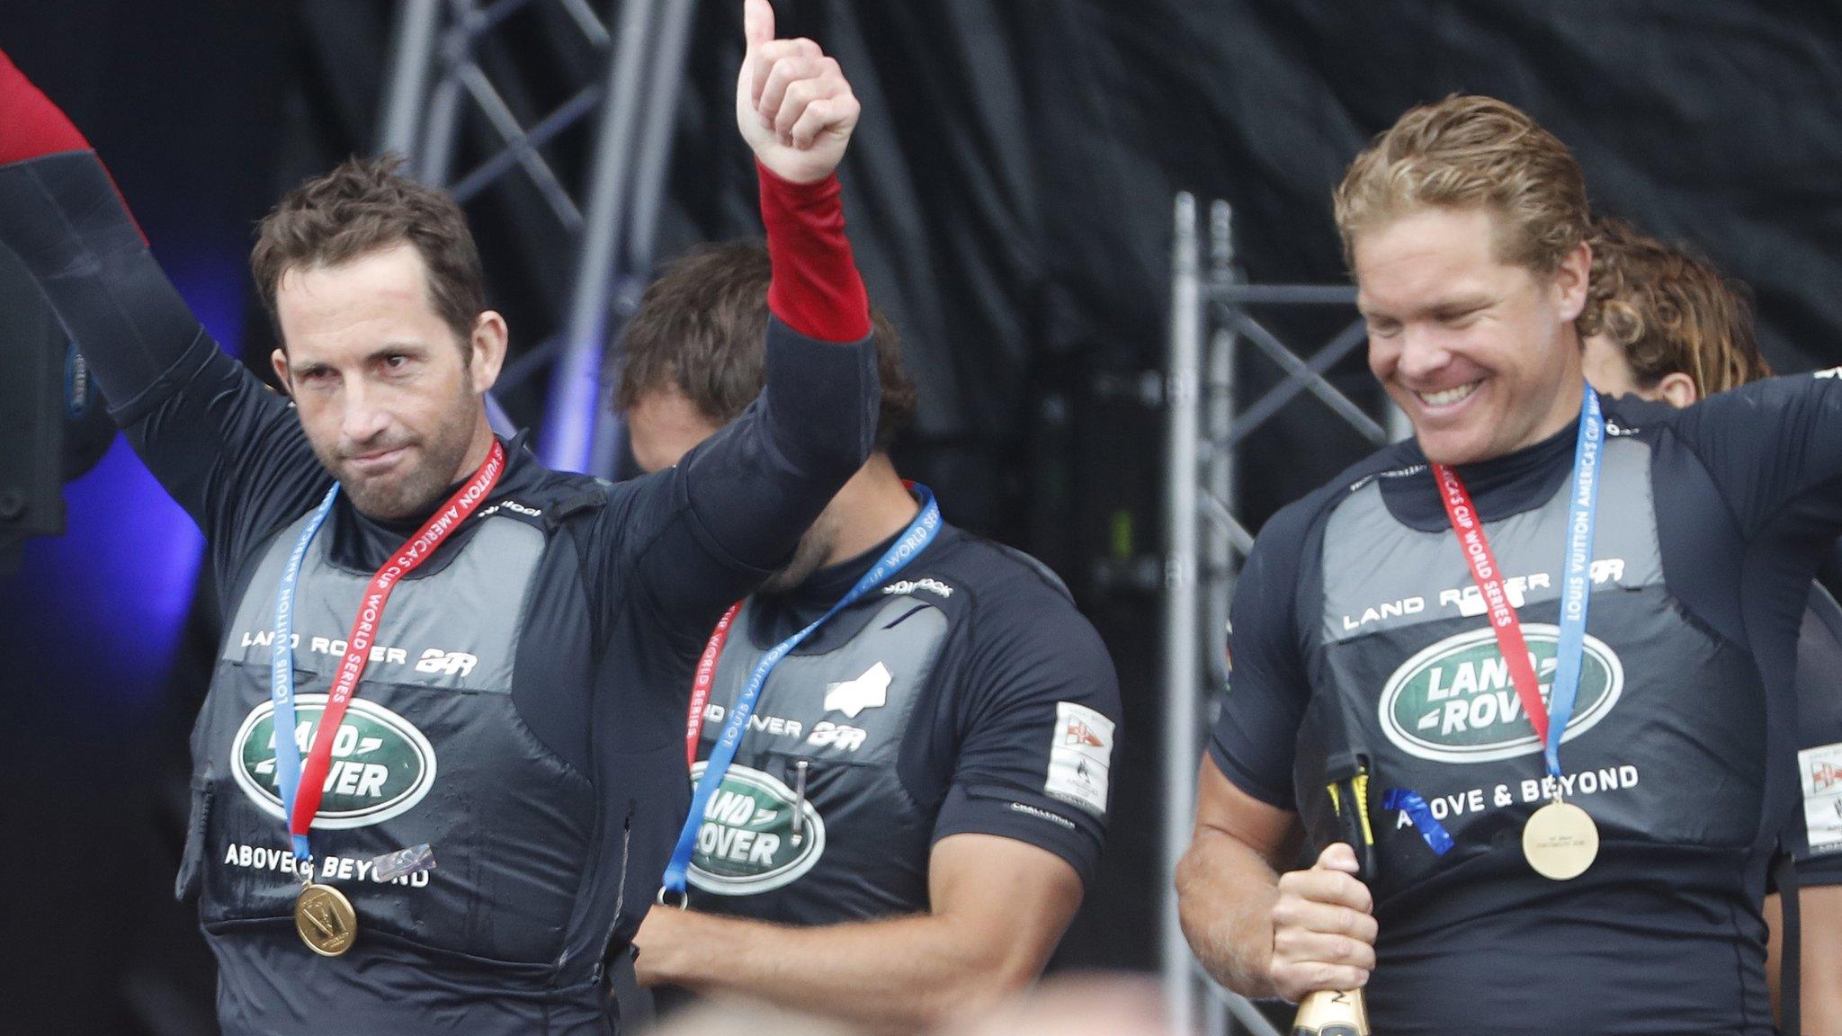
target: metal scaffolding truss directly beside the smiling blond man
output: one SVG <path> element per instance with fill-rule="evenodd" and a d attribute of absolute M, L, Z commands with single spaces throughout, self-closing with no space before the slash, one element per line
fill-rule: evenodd
<path fill-rule="evenodd" d="M 1203 754 L 1205 688 L 1225 688 L 1229 603 L 1234 575 L 1253 547 L 1240 518 L 1236 453 L 1247 435 L 1299 402 L 1313 398 L 1382 446 L 1407 435 L 1393 406 L 1380 420 L 1341 393 L 1332 367 L 1367 341 L 1354 319 L 1310 356 L 1288 347 L 1249 306 L 1352 308 L 1350 286 L 1247 284 L 1234 262 L 1232 219 L 1225 201 L 1210 206 L 1208 264 L 1195 199 L 1177 195 L 1172 253 L 1172 321 L 1166 367 L 1168 437 L 1164 555 L 1164 846 L 1162 846 L 1162 975 L 1172 1021 L 1179 1032 L 1201 1023 L 1229 1030 L 1230 1018 L 1264 1036 L 1271 1025 L 1245 999 L 1216 986 L 1195 966 L 1177 925 L 1172 876 L 1190 841 L 1195 813 L 1195 769 Z M 1275 363 L 1282 380 L 1251 406 L 1236 407 L 1234 367 L 1243 345 Z M 1201 1014 L 1199 1014 L 1201 1012 Z"/>

